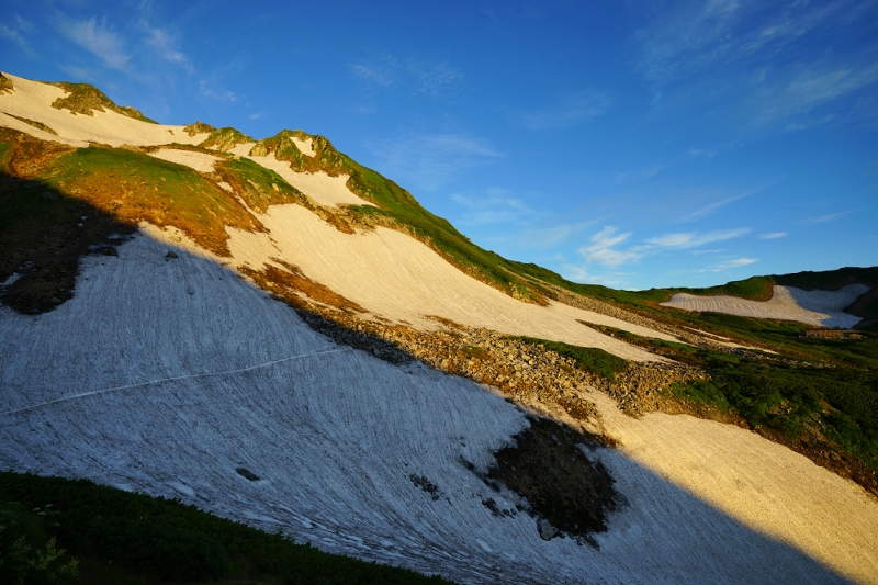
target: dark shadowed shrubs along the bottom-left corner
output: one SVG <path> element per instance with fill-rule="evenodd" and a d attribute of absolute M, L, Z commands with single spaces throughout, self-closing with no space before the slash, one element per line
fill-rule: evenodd
<path fill-rule="evenodd" d="M 56 560 L 48 564 L 49 571 L 59 576 L 63 570 L 70 574 L 64 569 L 70 567 L 70 560 L 54 549 L 56 542 L 78 558 L 77 583 L 449 583 L 438 576 L 327 554 L 296 544 L 280 532 L 269 535 L 179 500 L 87 480 L 0 473 L 0 502 L 20 503 L 0 507 L 0 514 L 12 510 L 21 519 L 20 531 L 33 532 L 27 537 L 34 543 L 32 550 L 46 551 L 52 543 Z M 37 507 L 43 516 L 23 511 Z M 34 526 L 40 530 L 32 530 Z M 0 559 L 5 559 L 8 539 L 2 533 L 0 539 Z"/>

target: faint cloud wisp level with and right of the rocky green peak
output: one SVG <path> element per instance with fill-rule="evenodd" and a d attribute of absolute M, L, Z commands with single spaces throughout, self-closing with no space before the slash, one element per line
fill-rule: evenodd
<path fill-rule="evenodd" d="M 425 191 L 504 156 L 484 140 L 461 133 L 409 134 L 365 146 L 382 160 L 382 169 L 390 177 L 401 177 Z"/>

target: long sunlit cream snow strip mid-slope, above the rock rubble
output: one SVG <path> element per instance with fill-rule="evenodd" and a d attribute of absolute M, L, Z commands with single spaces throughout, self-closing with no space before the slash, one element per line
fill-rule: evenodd
<path fill-rule="evenodd" d="M 311 192 L 305 190 L 306 195 Z M 301 205 L 271 205 L 257 216 L 270 234 L 227 228 L 236 266 L 280 258 L 371 313 L 436 328 L 439 315 L 472 327 L 598 347 L 634 361 L 661 359 L 584 326 L 609 325 L 646 337 L 674 337 L 561 303 L 522 303 L 464 274 L 417 239 L 385 227 L 344 234 Z M 179 237 L 179 236 L 178 236 Z"/>

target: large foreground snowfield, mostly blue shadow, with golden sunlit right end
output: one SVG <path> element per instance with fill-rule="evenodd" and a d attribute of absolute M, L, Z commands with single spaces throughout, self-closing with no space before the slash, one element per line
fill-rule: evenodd
<path fill-rule="evenodd" d="M 742 429 L 631 419 L 598 394 L 623 445 L 593 457 L 628 505 L 599 550 L 543 541 L 527 514 L 492 515 L 483 500 L 519 500 L 462 462 L 485 470 L 524 413 L 337 346 L 223 266 L 167 250 L 139 234 L 117 258 L 85 258 L 55 311 L 0 307 L 1 465 L 179 497 L 461 583 L 878 583 L 878 504 L 862 488 Z"/>

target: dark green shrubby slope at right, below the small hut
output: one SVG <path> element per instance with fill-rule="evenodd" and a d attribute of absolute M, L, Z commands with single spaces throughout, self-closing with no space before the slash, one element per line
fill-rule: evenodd
<path fill-rule="evenodd" d="M 792 328 L 765 326 L 764 338 L 795 353 L 777 359 L 615 334 L 707 370 L 709 382 L 676 384 L 671 391 L 694 410 L 718 407 L 878 495 L 878 334 L 865 333 L 856 342 L 799 339 Z M 798 342 L 785 339 L 790 335 Z"/>

